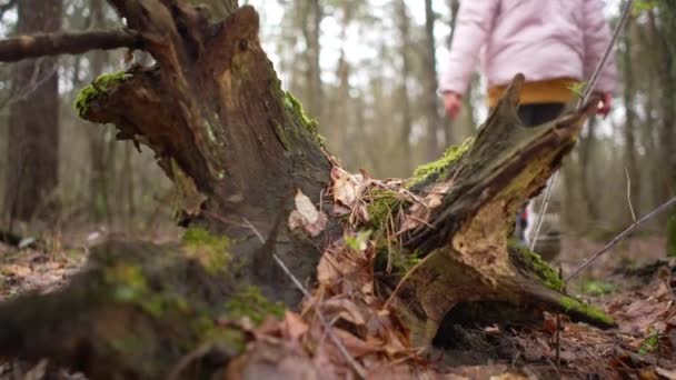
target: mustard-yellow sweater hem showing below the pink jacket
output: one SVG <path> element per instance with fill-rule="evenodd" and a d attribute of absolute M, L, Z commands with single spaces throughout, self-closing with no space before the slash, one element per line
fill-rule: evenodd
<path fill-rule="evenodd" d="M 568 103 L 575 97 L 570 87 L 578 83 L 570 78 L 548 79 L 537 82 L 526 82 L 521 90 L 521 104 L 533 103 Z M 498 104 L 498 100 L 507 86 L 496 86 L 488 89 L 488 107 Z"/>

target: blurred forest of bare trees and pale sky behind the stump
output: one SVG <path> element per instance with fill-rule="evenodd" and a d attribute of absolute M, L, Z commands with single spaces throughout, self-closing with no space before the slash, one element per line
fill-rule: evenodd
<path fill-rule="evenodd" d="M 375 177 L 406 177 L 474 136 L 486 117 L 479 76 L 453 122 L 437 93 L 459 2 L 248 1 L 284 86 L 318 120 L 329 150 Z M 613 24 L 622 4 L 607 2 Z M 615 49 L 614 111 L 585 127 L 556 187 L 567 234 L 606 238 L 633 221 L 629 203 L 639 217 L 676 194 L 676 6 L 638 4 Z M 105 0 L 0 0 L 2 37 L 116 26 Z M 78 90 L 99 74 L 150 61 L 118 50 L 0 67 L 3 229 L 153 234 L 171 224 L 175 196 L 152 153 L 73 109 Z M 664 226 L 666 217 L 643 230 L 662 234 Z"/>

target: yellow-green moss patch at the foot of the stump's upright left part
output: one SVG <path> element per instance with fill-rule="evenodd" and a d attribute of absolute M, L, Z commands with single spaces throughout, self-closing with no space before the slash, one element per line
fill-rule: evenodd
<path fill-rule="evenodd" d="M 188 257 L 197 259 L 210 274 L 225 272 L 230 263 L 230 239 L 216 236 L 200 227 L 191 227 L 182 238 Z"/>

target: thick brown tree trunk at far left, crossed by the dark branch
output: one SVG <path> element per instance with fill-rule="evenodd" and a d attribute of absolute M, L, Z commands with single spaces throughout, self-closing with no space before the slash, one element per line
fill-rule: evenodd
<path fill-rule="evenodd" d="M 18 7 L 19 33 L 59 30 L 61 0 L 24 0 Z M 17 63 L 12 89 L 16 101 L 9 117 L 4 214 L 10 220 L 30 220 L 37 211 L 56 206 L 52 198 L 59 181 L 57 59 Z"/>

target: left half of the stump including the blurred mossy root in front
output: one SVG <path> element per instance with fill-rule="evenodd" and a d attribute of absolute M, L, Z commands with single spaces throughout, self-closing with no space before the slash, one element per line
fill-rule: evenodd
<path fill-rule="evenodd" d="M 218 341 L 217 356 L 242 349 L 241 337 L 216 326 L 237 294 L 243 304 L 249 289 L 299 301 L 271 254 L 304 281 L 312 277 L 317 247 L 340 231 L 334 221 L 310 239 L 286 220 L 298 189 L 320 199 L 331 166 L 316 126 L 281 90 L 252 8 L 209 23 L 182 1 L 111 3 L 158 64 L 99 77 L 80 93 L 78 112 L 153 149 L 176 183 L 181 222 L 223 238 L 191 227 L 199 239 L 180 249 L 107 243 L 61 292 L 0 308 L 0 352 L 51 357 L 101 379 L 166 378 L 211 338 L 235 340 Z"/>

